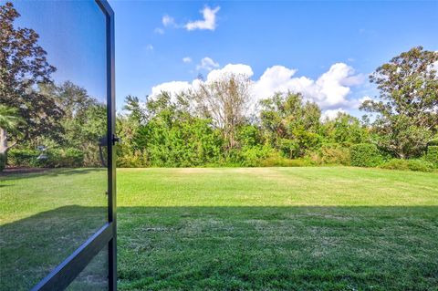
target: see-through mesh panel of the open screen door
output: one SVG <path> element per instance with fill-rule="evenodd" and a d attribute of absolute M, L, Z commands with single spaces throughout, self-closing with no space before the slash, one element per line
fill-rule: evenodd
<path fill-rule="evenodd" d="M 19 123 L 0 173 L 0 290 L 29 290 L 108 222 L 107 27 L 94 1 L 0 5 L 10 68 L 26 53 L 1 97 Z"/>

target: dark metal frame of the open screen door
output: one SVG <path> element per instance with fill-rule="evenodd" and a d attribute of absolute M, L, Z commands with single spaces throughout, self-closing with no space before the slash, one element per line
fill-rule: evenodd
<path fill-rule="evenodd" d="M 116 153 L 115 136 L 115 70 L 114 70 L 114 12 L 107 0 L 94 0 L 105 16 L 107 66 L 107 146 L 108 146 L 108 222 L 78 249 L 57 265 L 32 291 L 66 289 L 95 255 L 108 246 L 109 290 L 117 290 L 117 224 L 116 224 Z"/>

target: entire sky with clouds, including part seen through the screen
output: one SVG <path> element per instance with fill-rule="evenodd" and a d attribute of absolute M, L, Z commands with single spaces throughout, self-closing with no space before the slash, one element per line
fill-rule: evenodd
<path fill-rule="evenodd" d="M 103 22 L 89 4 L 23 1 L 16 7 L 20 24 L 40 34 L 58 68 L 57 81 L 71 79 L 91 95 L 102 95 Z M 118 109 L 128 94 L 144 100 L 163 88 L 190 88 L 199 74 L 209 78 L 231 70 L 254 80 L 256 99 L 291 89 L 326 111 L 360 116 L 360 99 L 376 94 L 370 72 L 414 46 L 438 50 L 438 1 L 110 5 L 116 15 Z"/>

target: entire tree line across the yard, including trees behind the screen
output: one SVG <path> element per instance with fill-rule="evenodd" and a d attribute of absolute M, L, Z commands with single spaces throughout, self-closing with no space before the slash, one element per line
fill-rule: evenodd
<path fill-rule="evenodd" d="M 0 5 L 0 168 L 6 158 L 11 166 L 101 165 L 105 104 L 72 82 L 55 84 L 56 68 L 39 36 L 15 27 L 17 17 L 14 5 Z M 128 96 L 117 115 L 118 166 L 374 166 L 415 159 L 403 167 L 436 167 L 436 64 L 437 52 L 412 47 L 377 68 L 370 82 L 380 94 L 361 104 L 362 120 L 347 113 L 322 120 L 318 104 L 291 91 L 272 92 L 251 109 L 252 81 L 233 73 L 176 95 Z"/>

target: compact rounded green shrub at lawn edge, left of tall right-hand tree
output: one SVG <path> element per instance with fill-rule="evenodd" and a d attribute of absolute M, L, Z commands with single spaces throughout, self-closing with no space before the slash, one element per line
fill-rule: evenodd
<path fill-rule="evenodd" d="M 376 167 L 381 164 L 381 152 L 370 143 L 353 144 L 349 148 L 350 164 L 357 167 Z"/>

